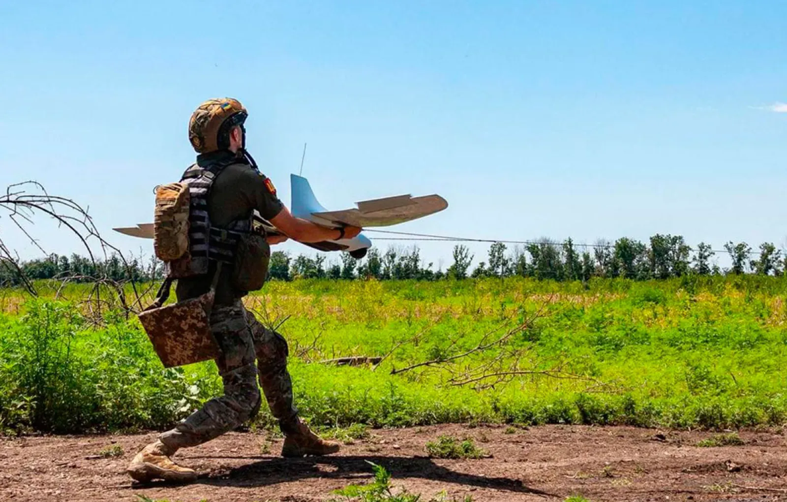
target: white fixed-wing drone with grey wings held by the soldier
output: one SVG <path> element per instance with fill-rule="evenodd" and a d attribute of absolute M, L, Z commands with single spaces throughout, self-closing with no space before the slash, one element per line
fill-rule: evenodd
<path fill-rule="evenodd" d="M 293 216 L 331 228 L 342 227 L 342 225 L 362 228 L 390 227 L 397 223 L 429 216 L 448 207 L 448 202 L 437 194 L 422 197 L 397 195 L 357 202 L 357 207 L 353 209 L 328 211 L 317 201 L 308 179 L 298 175 L 290 175 L 290 190 Z M 255 214 L 255 220 L 265 228 L 268 234 L 282 233 L 257 214 Z M 113 228 L 113 230 L 133 237 L 153 238 L 153 223 L 139 223 L 136 227 Z M 360 259 L 366 256 L 367 250 L 371 247 L 371 240 L 364 234 L 359 234 L 351 239 L 312 242 L 306 245 L 320 251 L 345 251 L 353 258 Z"/>

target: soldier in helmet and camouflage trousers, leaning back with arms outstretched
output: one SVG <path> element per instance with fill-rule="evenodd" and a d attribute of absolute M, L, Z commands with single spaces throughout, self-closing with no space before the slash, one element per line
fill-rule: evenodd
<path fill-rule="evenodd" d="M 200 105 L 191 116 L 189 139 L 198 157 L 184 179 L 190 172 L 204 173 L 207 170 L 216 173 L 212 182 L 205 187 L 205 218 L 210 226 L 221 230 L 237 228 L 238 223 L 251 224 L 253 211 L 256 210 L 283 234 L 298 242 L 338 240 L 359 234 L 360 228 L 357 227 L 329 229 L 290 214 L 276 197 L 273 183 L 257 170 L 253 158 L 246 152 L 246 130 L 243 126 L 246 116 L 246 109 L 231 98 L 211 99 Z M 194 197 L 191 207 L 190 246 L 195 246 L 198 244 L 194 242 L 199 240 L 200 234 L 192 233 L 195 227 Z M 202 238 L 212 237 L 205 238 L 205 234 L 202 234 Z M 268 244 L 285 240 L 286 237 L 267 237 Z M 169 457 L 179 448 L 210 441 L 257 415 L 261 404 L 257 378 L 272 414 L 286 434 L 282 456 L 338 452 L 337 443 L 324 441 L 298 418 L 297 408 L 293 404 L 292 382 L 286 369 L 286 341 L 282 335 L 260 324 L 244 308 L 242 297 L 248 291 L 238 289 L 238 282 L 234 280 L 237 274 L 233 275 L 232 266 L 224 264 L 221 268 L 218 261 L 207 260 L 206 274 L 179 279 L 176 293 L 178 301 L 183 301 L 198 297 L 212 286 L 215 287 L 210 329 L 221 349 L 216 366 L 224 381 L 224 396 L 207 401 L 200 410 L 174 429 L 161 434 L 157 441 L 147 445 L 135 456 L 127 471 L 131 478 L 139 482 L 152 479 L 194 481 L 197 478 L 194 470 L 177 465 Z M 262 263 L 249 267 L 257 265 L 267 267 L 267 264 Z M 258 270 L 236 272 L 249 272 L 252 275 L 260 273 Z"/>

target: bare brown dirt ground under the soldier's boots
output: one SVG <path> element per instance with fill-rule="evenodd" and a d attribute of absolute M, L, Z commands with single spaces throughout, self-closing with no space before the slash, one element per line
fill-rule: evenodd
<path fill-rule="evenodd" d="M 335 456 L 283 459 L 282 441 L 231 433 L 176 460 L 201 472 L 191 485 L 132 484 L 124 469 L 154 434 L 23 437 L 0 440 L 0 500 L 153 500 L 181 502 L 312 502 L 368 482 L 366 461 L 393 473 L 393 485 L 423 500 L 445 490 L 477 502 L 558 500 L 580 494 L 594 502 L 645 500 L 787 500 L 787 437 L 741 432 L 742 446 L 700 448 L 709 433 L 633 427 L 430 426 L 373 430 Z M 440 434 L 473 437 L 482 460 L 429 459 Z M 119 445 L 123 454 L 102 458 Z M 267 447 L 265 445 L 268 445 Z M 265 451 L 269 451 L 264 453 Z M 748 488 L 745 488 L 748 487 Z"/>

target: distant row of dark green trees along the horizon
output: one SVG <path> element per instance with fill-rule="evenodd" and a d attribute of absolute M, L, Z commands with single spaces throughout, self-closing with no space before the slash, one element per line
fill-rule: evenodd
<path fill-rule="evenodd" d="M 557 281 L 586 281 L 593 277 L 622 277 L 634 280 L 669 279 L 682 275 L 785 275 L 787 255 L 771 242 L 763 242 L 755 252 L 745 242 L 727 242 L 724 253 L 730 257 L 729 268 L 714 263 L 716 252 L 711 245 L 700 242 L 690 248 L 680 235 L 656 234 L 647 243 L 631 238 L 615 242 L 600 241 L 580 251 L 571 240 L 552 242 L 541 239 L 523 247 L 509 249 L 502 242 L 490 245 L 486 259 L 472 267 L 475 257 L 466 245 L 455 245 L 452 264 L 434 270 L 433 263 L 424 263 L 417 245 L 407 249 L 390 247 L 384 253 L 371 248 L 366 257 L 356 260 L 347 253 L 340 260 L 327 260 L 326 255 L 290 256 L 284 251 L 271 254 L 268 275 L 271 279 L 467 279 L 485 277 L 533 277 Z M 335 255 L 333 255 L 335 256 Z M 118 282 L 146 282 L 164 276 L 164 267 L 157 260 L 145 263 L 142 258 L 121 260 L 112 256 L 91 260 L 72 254 L 23 261 L 22 273 L 28 279 L 68 279 L 91 282 L 98 278 Z M 0 263 L 0 285 L 15 285 L 19 272 Z"/>

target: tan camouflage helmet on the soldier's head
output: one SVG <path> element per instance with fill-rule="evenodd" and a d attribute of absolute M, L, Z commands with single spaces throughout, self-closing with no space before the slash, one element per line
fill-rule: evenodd
<path fill-rule="evenodd" d="M 208 153 L 227 149 L 230 146 L 230 130 L 243 126 L 248 113 L 243 105 L 233 98 L 216 98 L 199 105 L 189 120 L 189 141 L 197 153 Z"/>

